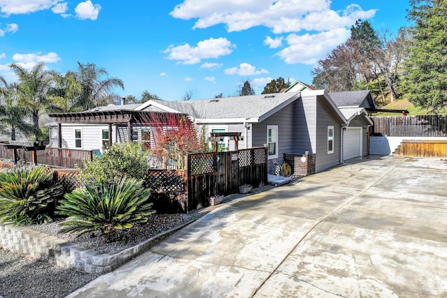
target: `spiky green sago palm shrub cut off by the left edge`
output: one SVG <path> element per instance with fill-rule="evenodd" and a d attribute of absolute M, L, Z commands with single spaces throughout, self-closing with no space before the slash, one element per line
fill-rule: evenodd
<path fill-rule="evenodd" d="M 0 172 L 0 222 L 16 225 L 52 220 L 54 200 L 63 186 L 54 184 L 53 174 L 45 167 Z"/>

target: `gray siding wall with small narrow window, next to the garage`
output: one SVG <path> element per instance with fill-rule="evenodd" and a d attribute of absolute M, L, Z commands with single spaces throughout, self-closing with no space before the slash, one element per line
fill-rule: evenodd
<path fill-rule="evenodd" d="M 326 108 L 316 101 L 316 172 L 340 163 L 340 124 Z M 334 126 L 334 153 L 328 154 L 328 126 Z"/>

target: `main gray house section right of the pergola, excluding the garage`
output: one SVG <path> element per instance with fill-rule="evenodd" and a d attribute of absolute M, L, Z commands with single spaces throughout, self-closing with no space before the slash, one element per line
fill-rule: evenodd
<path fill-rule="evenodd" d="M 340 163 L 341 128 L 347 124 L 323 90 L 205 100 L 149 100 L 137 110 L 189 114 L 206 133 L 241 133 L 239 149 L 268 147 L 268 166 L 284 154 L 316 154 L 316 172 Z M 234 149 L 228 138 L 221 146 Z"/>

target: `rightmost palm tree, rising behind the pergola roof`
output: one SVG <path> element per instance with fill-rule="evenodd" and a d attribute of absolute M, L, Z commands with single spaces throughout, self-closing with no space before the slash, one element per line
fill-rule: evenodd
<path fill-rule="evenodd" d="M 108 77 L 105 68 L 97 68 L 93 63 L 81 64 L 78 62 L 78 72 L 75 73 L 75 77 L 82 87 L 78 101 L 78 106 L 82 107 L 82 110 L 115 103 L 120 98 L 112 92 L 112 89 L 119 87 L 124 90 L 122 80 Z"/>

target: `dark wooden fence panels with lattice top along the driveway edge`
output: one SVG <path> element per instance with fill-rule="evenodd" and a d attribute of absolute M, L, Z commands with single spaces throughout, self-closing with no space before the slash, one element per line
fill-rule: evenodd
<path fill-rule="evenodd" d="M 265 147 L 190 154 L 187 162 L 189 211 L 209 206 L 212 195 L 239 192 L 239 186 L 258 188 L 267 184 L 267 149 Z"/>

